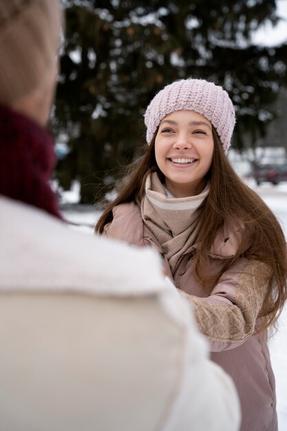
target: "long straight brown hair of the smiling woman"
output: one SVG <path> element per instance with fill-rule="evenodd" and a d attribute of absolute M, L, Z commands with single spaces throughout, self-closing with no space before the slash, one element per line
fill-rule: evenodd
<path fill-rule="evenodd" d="M 140 201 L 145 193 L 145 179 L 151 171 L 157 171 L 164 180 L 156 164 L 155 139 L 147 146 L 145 154 L 138 158 L 125 176 L 120 191 L 96 224 L 95 231 L 103 233 L 105 224 L 113 219 L 113 208 L 121 203 Z M 204 286 L 211 282 L 206 277 L 209 251 L 215 235 L 228 222 L 231 226 L 242 227 L 240 246 L 235 256 L 226 260 L 224 267 L 213 275 L 215 283 L 226 269 L 240 257 L 264 262 L 271 269 L 268 293 L 259 317 L 264 317 L 262 329 L 274 324 L 287 299 L 287 247 L 284 232 L 265 202 L 237 176 L 226 158 L 220 139 L 213 127 L 214 153 L 211 168 L 206 178 L 210 182 L 209 196 L 202 204 L 202 215 L 198 232 L 200 247 L 195 255 L 195 276 Z"/>

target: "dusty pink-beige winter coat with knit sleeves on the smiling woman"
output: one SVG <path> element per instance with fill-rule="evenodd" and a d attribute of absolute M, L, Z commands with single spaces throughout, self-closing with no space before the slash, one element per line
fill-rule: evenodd
<path fill-rule="evenodd" d="M 266 333 L 253 335 L 270 277 L 266 266 L 241 259 L 223 273 L 216 286 L 203 291 L 193 275 L 196 244 L 184 251 L 172 275 L 160 243 L 133 202 L 114 208 L 114 220 L 106 225 L 105 235 L 136 246 L 152 246 L 160 253 L 169 277 L 193 306 L 198 327 L 209 339 L 211 358 L 235 381 L 242 406 L 241 431 L 276 431 L 275 379 Z M 231 231 L 219 231 L 206 271 L 220 269 L 235 252 L 235 244 Z"/>

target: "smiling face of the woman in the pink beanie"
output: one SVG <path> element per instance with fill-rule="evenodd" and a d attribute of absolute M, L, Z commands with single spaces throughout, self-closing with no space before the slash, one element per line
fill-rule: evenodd
<path fill-rule="evenodd" d="M 204 116 L 175 111 L 163 118 L 155 140 L 156 162 L 173 196 L 195 196 L 204 189 L 213 148 L 211 122 Z"/>

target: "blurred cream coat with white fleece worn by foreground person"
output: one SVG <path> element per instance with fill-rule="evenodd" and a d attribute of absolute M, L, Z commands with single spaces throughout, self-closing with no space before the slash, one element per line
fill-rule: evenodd
<path fill-rule="evenodd" d="M 1 196 L 0 238 L 1 431 L 238 430 L 156 253 Z"/>

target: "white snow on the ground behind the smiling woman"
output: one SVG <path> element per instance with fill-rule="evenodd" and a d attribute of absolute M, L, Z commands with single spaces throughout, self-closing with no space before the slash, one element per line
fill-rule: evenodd
<path fill-rule="evenodd" d="M 259 193 L 268 207 L 273 210 L 287 238 L 287 182 L 277 186 L 263 183 L 260 186 L 250 184 Z M 100 211 L 93 207 L 65 207 L 63 214 L 66 220 L 73 222 L 72 229 L 93 234 L 94 224 L 100 216 Z M 277 385 L 277 412 L 279 431 L 287 430 L 287 305 L 279 319 L 277 333 L 270 339 L 270 355 L 273 363 Z"/>

